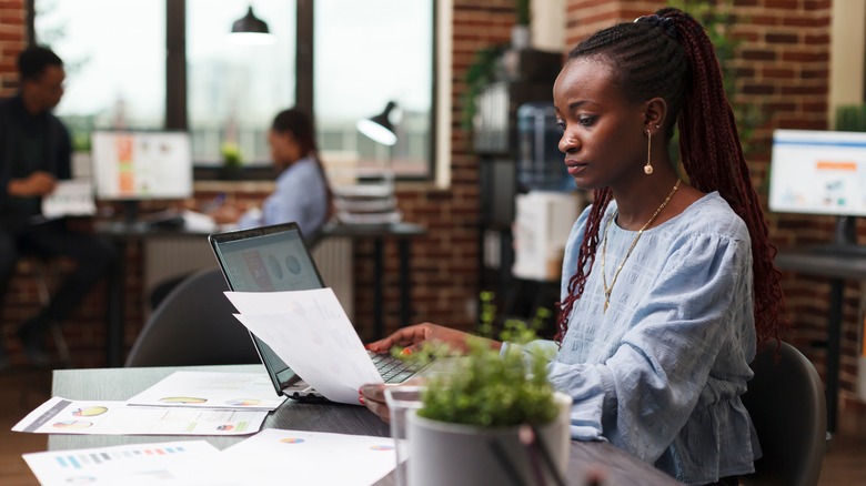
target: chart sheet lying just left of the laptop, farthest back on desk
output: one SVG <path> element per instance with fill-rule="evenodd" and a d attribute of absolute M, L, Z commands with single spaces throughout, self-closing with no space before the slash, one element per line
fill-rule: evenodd
<path fill-rule="evenodd" d="M 273 411 L 285 401 L 264 373 L 174 372 L 129 405 Z"/>

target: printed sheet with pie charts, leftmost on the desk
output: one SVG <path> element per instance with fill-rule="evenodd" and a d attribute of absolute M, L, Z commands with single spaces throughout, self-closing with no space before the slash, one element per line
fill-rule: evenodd
<path fill-rule="evenodd" d="M 131 407 L 125 402 L 70 401 L 54 396 L 12 427 L 33 434 L 244 435 L 258 432 L 268 412 Z"/>

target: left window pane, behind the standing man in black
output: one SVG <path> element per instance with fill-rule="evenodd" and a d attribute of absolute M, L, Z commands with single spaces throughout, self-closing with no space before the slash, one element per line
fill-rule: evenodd
<path fill-rule="evenodd" d="M 40 0 L 39 44 L 63 59 L 66 93 L 56 113 L 77 150 L 94 129 L 159 129 L 165 118 L 165 8 L 152 0 Z M 117 19 L 124 21 L 117 28 Z"/>

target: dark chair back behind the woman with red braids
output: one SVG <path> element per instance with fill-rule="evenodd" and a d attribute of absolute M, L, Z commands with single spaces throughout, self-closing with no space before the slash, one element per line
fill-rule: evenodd
<path fill-rule="evenodd" d="M 814 486 L 827 441 L 824 385 L 815 366 L 794 346 L 765 343 L 752 363 L 755 377 L 743 404 L 757 431 L 763 457 L 743 485 Z"/>

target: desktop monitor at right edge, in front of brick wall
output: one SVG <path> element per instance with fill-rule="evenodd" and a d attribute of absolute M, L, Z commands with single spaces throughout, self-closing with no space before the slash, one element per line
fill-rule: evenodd
<path fill-rule="evenodd" d="M 776 130 L 769 209 L 837 217 L 836 243 L 855 245 L 854 217 L 866 216 L 866 133 Z"/>

